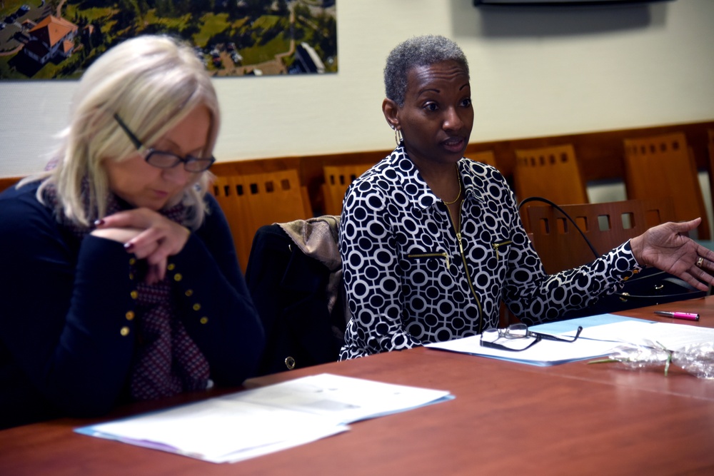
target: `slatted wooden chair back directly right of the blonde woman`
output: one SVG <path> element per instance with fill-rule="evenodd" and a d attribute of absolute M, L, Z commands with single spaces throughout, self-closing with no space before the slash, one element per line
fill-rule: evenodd
<path fill-rule="evenodd" d="M 258 228 L 312 216 L 307 189 L 300 185 L 298 172 L 293 169 L 217 176 L 213 195 L 228 218 L 243 272 Z"/>

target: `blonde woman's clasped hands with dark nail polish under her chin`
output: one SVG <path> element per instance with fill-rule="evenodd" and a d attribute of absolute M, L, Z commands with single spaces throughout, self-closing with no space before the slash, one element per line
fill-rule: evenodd
<path fill-rule="evenodd" d="M 146 283 L 154 284 L 164 279 L 169 256 L 183 249 L 191 232 L 149 208 L 135 208 L 104 217 L 91 234 L 124 243 L 136 258 L 146 259 Z"/>

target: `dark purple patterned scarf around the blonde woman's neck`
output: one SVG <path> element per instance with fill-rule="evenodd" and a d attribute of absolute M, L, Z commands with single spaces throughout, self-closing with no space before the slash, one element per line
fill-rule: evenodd
<path fill-rule="evenodd" d="M 86 194 L 85 194 L 86 196 Z M 47 186 L 44 191 L 46 203 L 58 210 L 56 189 Z M 89 208 L 89 200 L 86 201 Z M 107 216 L 132 207 L 120 198 L 110 194 L 107 201 Z M 90 223 L 96 219 L 96 210 L 86 210 Z M 183 204 L 159 212 L 176 223 L 183 223 L 186 208 Z M 94 230 L 94 226 L 84 227 L 72 223 L 58 211 L 61 226 L 71 231 L 80 240 Z M 136 342 L 132 358 L 129 393 L 135 400 L 151 400 L 169 397 L 181 392 L 203 390 L 208 385 L 208 361 L 201 353 L 183 323 L 176 315 L 174 300 L 171 299 L 169 275 L 159 283 L 144 283 L 146 262 L 137 260 L 131 273 L 137 276 L 136 290 Z"/>

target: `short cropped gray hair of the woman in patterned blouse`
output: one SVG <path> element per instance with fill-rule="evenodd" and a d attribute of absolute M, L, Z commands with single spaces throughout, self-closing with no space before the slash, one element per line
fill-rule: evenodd
<path fill-rule="evenodd" d="M 414 36 L 401 44 L 387 56 L 384 67 L 384 89 L 388 99 L 398 106 L 404 105 L 407 75 L 418 66 L 431 66 L 442 61 L 456 61 L 463 66 L 468 76 L 468 61 L 458 45 L 443 36 Z"/>

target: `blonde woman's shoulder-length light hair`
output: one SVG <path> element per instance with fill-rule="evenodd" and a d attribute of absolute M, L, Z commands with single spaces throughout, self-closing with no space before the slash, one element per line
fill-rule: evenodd
<path fill-rule="evenodd" d="M 220 111 L 216 91 L 201 60 L 191 46 L 169 36 L 138 36 L 109 49 L 84 73 L 72 101 L 69 126 L 61 133 L 51 171 L 30 180 L 47 178 L 43 189 L 56 188 L 58 210 L 69 221 L 89 226 L 89 210 L 97 218 L 106 215 L 109 179 L 102 162 L 123 161 L 136 147 L 114 119 L 118 114 L 147 146 L 186 118 L 196 106 L 208 108 L 211 125 L 206 148 L 208 157 L 216 145 Z M 203 196 L 211 181 L 208 171 L 198 173 L 186 186 L 182 201 L 188 208 L 186 225 L 203 223 L 206 204 Z M 84 190 L 83 190 L 84 182 Z M 86 189 L 86 186 L 89 189 Z"/>

